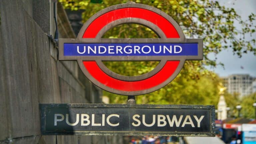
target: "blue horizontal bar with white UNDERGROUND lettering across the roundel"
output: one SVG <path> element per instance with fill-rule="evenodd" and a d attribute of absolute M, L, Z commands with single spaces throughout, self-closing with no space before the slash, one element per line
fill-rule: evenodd
<path fill-rule="evenodd" d="M 198 43 L 64 43 L 64 56 L 197 56 Z"/>

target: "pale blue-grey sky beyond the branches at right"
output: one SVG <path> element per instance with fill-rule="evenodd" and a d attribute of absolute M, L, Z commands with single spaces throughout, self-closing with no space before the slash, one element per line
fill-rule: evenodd
<path fill-rule="evenodd" d="M 236 12 L 242 16 L 243 20 L 247 19 L 248 15 L 251 13 L 256 14 L 256 0 L 219 0 L 219 3 L 226 7 L 233 7 Z M 256 37 L 256 35 L 254 36 Z M 254 45 L 254 47 L 256 46 Z M 215 58 L 214 55 L 209 56 L 211 59 Z M 229 48 L 217 54 L 216 57 L 217 63 L 222 62 L 224 68 L 222 66 L 207 68 L 214 71 L 219 76 L 224 77 L 231 74 L 249 74 L 256 77 L 256 56 L 253 55 L 253 53 L 243 54 L 242 58 L 239 58 L 237 55 L 233 55 L 232 48 Z"/>

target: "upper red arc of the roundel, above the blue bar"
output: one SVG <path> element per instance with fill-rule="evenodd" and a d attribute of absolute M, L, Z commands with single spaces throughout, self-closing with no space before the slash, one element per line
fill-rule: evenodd
<path fill-rule="evenodd" d="M 147 20 L 157 25 L 167 38 L 180 38 L 179 33 L 171 22 L 163 16 L 143 8 L 121 8 L 107 12 L 99 16 L 89 25 L 83 34 L 83 38 L 95 38 L 104 26 L 123 18 L 139 18 Z"/>

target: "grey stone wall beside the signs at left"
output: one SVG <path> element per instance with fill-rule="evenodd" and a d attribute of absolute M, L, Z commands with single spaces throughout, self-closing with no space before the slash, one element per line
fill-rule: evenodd
<path fill-rule="evenodd" d="M 113 136 L 41 135 L 39 103 L 101 103 L 101 90 L 76 62 L 57 60 L 45 34 L 53 34 L 52 7 L 49 0 L 0 0 L 0 144 L 122 143 Z"/>

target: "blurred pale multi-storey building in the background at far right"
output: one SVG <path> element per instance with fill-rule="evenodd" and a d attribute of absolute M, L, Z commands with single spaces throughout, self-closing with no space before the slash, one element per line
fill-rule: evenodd
<path fill-rule="evenodd" d="M 224 86 L 231 94 L 238 93 L 240 98 L 253 93 L 253 81 L 255 78 L 248 74 L 233 74 L 223 77 Z"/>

